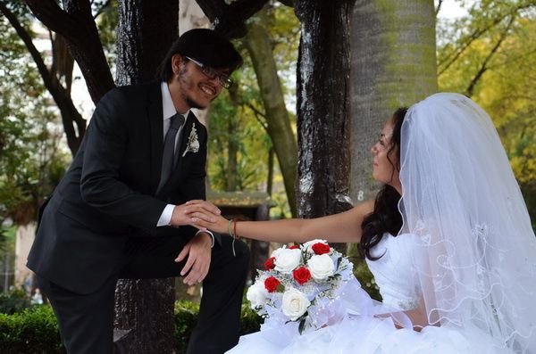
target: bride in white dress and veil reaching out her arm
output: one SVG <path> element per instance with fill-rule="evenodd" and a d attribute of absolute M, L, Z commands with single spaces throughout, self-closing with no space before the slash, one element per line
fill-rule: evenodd
<path fill-rule="evenodd" d="M 372 152 L 385 185 L 347 212 L 230 224 L 192 213 L 257 240 L 360 243 L 380 286 L 382 304 L 350 283 L 338 323 L 299 334 L 268 319 L 229 352 L 536 354 L 536 238 L 488 114 L 431 95 L 395 112 Z"/>

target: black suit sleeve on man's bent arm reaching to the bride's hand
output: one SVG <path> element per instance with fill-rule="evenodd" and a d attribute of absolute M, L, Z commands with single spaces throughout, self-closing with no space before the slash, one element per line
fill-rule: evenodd
<path fill-rule="evenodd" d="M 121 160 L 129 140 L 130 104 L 118 89 L 110 91 L 97 104 L 85 136 L 88 141 L 80 193 L 97 210 L 152 232 L 166 202 L 135 192 L 120 179 Z"/>

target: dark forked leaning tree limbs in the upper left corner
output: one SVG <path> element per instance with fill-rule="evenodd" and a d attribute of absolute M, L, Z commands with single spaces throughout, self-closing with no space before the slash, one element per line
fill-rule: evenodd
<path fill-rule="evenodd" d="M 86 129 L 86 121 L 80 115 L 80 112 L 74 106 L 71 100 L 71 79 L 72 79 L 72 57 L 81 62 L 80 67 L 89 71 L 87 77 L 89 92 L 92 98 L 97 100 L 101 95 L 113 86 L 113 80 L 105 62 L 102 45 L 100 45 L 98 33 L 92 31 L 95 28 L 94 16 L 97 16 L 109 2 L 95 1 L 94 8 L 91 8 L 89 2 L 77 2 L 74 0 L 65 0 L 63 2 L 65 11 L 54 1 L 28 1 L 32 12 L 41 20 L 52 24 L 48 26 L 50 39 L 53 47 L 53 63 L 50 67 L 42 54 L 34 45 L 28 29 L 29 21 L 26 26 L 23 22 L 23 16 L 28 14 L 27 9 L 20 2 L 3 0 L 0 2 L 0 12 L 12 24 L 13 29 L 26 45 L 29 54 L 38 67 L 38 72 L 43 79 L 46 89 L 52 95 L 54 102 L 60 110 L 63 129 L 67 138 L 67 144 L 71 149 L 72 155 L 78 151 L 82 136 Z M 80 7 L 79 7 L 80 5 Z M 13 10 L 14 9 L 14 12 Z M 93 12 L 92 12 L 93 10 Z M 54 22 L 55 21 L 55 22 Z M 93 26 L 93 27 L 92 27 Z M 56 33 L 53 33 L 55 31 Z M 66 36 L 63 36 L 62 33 Z M 83 37 L 85 41 L 81 45 L 71 45 L 73 38 Z M 67 51 L 66 46 L 71 45 L 71 51 Z M 88 50 L 88 55 L 80 54 L 83 49 Z M 98 65 L 98 64 L 101 65 Z M 94 65 L 92 70 L 87 70 L 88 65 Z M 107 70 L 107 75 L 103 75 Z M 110 79 L 108 79 L 110 78 Z"/>

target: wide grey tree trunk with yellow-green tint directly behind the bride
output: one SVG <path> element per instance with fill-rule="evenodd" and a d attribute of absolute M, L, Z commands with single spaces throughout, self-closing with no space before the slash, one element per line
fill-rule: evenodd
<path fill-rule="evenodd" d="M 437 92 L 432 0 L 357 0 L 352 17 L 354 202 L 373 198 L 371 147 L 398 107 Z"/>

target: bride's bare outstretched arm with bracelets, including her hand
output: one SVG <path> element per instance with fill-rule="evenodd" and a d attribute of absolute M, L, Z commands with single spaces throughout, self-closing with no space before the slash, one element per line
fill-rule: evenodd
<path fill-rule="evenodd" d="M 197 201 L 188 202 L 195 206 Z M 361 240 L 361 223 L 365 216 L 373 211 L 374 201 L 365 201 L 351 210 L 322 218 L 290 218 L 271 221 L 238 221 L 231 223 L 233 234 L 240 237 L 278 243 L 303 243 L 315 238 L 322 238 L 330 243 L 358 243 Z M 199 212 L 199 211 L 197 211 Z M 205 227 L 215 232 L 228 234 L 229 221 L 220 216 L 214 216 L 215 222 L 206 222 L 198 218 L 197 212 L 190 215 L 199 227 Z"/>

